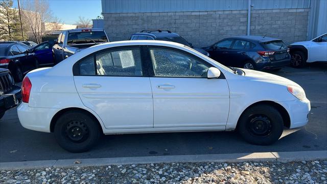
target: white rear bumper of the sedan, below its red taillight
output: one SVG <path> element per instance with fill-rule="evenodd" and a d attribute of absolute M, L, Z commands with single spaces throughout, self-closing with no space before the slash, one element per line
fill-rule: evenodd
<path fill-rule="evenodd" d="M 21 103 L 17 107 L 18 119 L 24 128 L 50 132 L 50 123 L 60 109 L 29 107 L 28 103 Z"/>

